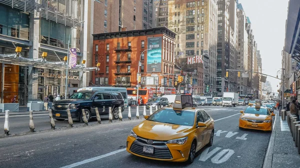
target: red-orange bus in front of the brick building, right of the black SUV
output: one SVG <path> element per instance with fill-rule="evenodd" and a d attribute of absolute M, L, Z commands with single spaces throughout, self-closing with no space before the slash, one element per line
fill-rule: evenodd
<path fill-rule="evenodd" d="M 128 99 L 136 100 L 137 90 L 135 88 L 127 88 Z M 149 89 L 138 89 L 138 96 L 142 98 L 140 104 L 146 104 L 148 99 L 153 96 L 152 90 Z"/>

